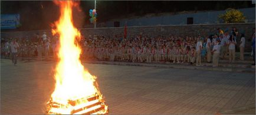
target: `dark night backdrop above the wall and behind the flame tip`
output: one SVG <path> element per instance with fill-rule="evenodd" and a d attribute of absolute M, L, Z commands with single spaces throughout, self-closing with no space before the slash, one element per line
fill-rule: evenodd
<path fill-rule="evenodd" d="M 81 11 L 74 9 L 75 26 L 84 28 L 90 24 L 89 10 L 94 1 L 80 1 Z M 224 10 L 255 6 L 251 1 L 97 1 L 98 22 L 115 18 L 129 18 L 163 12 Z M 1 14 L 19 14 L 22 24 L 19 30 L 50 29 L 59 17 L 58 6 L 52 1 L 1 1 Z M 8 30 L 9 31 L 9 30 Z"/>

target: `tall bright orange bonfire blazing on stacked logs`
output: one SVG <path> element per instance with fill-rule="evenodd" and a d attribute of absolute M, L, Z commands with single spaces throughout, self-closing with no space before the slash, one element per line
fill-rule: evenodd
<path fill-rule="evenodd" d="M 89 98 L 99 96 L 98 101 L 103 102 L 91 108 L 83 109 L 90 111 L 103 106 L 103 110 L 96 114 L 107 113 L 107 106 L 104 104 L 103 97 L 96 83 L 96 76 L 88 73 L 84 69 L 80 61 L 81 48 L 76 44 L 80 40 L 80 32 L 74 27 L 72 19 L 72 8 L 77 6 L 72 1 L 55 1 L 60 6 L 60 19 L 55 22 L 55 29 L 52 34 L 58 34 L 60 37 L 60 48 L 58 58 L 60 58 L 55 72 L 55 90 L 51 95 L 51 100 L 60 103 L 60 107 L 49 107 L 48 113 L 72 114 L 71 111 L 76 107 L 90 104 L 88 100 L 80 100 L 80 98 Z M 69 104 L 70 100 L 74 100 L 76 105 Z M 94 100 L 95 101 L 95 100 Z M 80 104 L 80 105 L 79 105 Z M 80 112 L 80 111 L 79 111 Z"/>

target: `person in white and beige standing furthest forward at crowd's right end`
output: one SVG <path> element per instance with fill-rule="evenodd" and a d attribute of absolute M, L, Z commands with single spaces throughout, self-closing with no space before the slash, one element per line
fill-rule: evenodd
<path fill-rule="evenodd" d="M 212 66 L 218 67 L 219 63 L 219 53 L 221 52 L 221 45 L 219 44 L 220 40 L 216 40 L 216 43 L 214 45 L 214 48 L 212 49 L 212 53 L 214 56 L 212 57 Z"/>

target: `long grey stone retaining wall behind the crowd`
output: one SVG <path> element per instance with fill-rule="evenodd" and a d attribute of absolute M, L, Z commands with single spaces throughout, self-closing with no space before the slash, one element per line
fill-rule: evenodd
<path fill-rule="evenodd" d="M 159 35 L 169 36 L 178 35 L 181 37 L 188 36 L 198 36 L 208 37 L 210 34 L 214 34 L 217 28 L 229 29 L 231 31 L 232 27 L 238 29 L 239 33 L 245 34 L 246 47 L 245 51 L 251 51 L 251 36 L 252 29 L 255 28 L 255 23 L 241 23 L 241 24 L 198 24 L 198 25 L 168 25 L 168 26 L 152 26 L 152 27 L 127 27 L 127 37 L 136 37 L 137 34 L 142 33 L 143 35 L 148 35 L 152 37 L 157 37 Z M 86 28 L 80 29 L 81 34 L 85 37 L 88 35 L 123 35 L 124 27 L 118 28 Z M 1 38 L 31 38 L 35 37 L 35 34 L 42 35 L 42 32 L 47 32 L 47 35 L 51 36 L 50 30 L 44 31 L 17 31 L 17 32 L 1 32 Z M 238 36 L 238 40 L 240 37 Z"/>

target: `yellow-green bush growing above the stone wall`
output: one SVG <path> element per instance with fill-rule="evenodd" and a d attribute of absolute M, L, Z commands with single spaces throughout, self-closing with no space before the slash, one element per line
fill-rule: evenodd
<path fill-rule="evenodd" d="M 219 19 L 222 19 L 225 23 L 238 23 L 244 22 L 245 16 L 237 9 L 228 8 L 225 14 L 219 15 Z"/>

